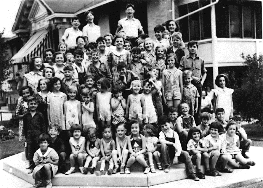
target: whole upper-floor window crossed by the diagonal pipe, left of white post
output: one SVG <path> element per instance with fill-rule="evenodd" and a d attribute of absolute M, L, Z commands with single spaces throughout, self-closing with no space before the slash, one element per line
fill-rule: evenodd
<path fill-rule="evenodd" d="M 197 1 L 179 6 L 179 16 L 186 15 L 201 7 L 210 4 L 210 1 Z M 193 15 L 179 20 L 180 32 L 185 42 L 190 40 L 201 40 L 211 38 L 211 11 L 210 8 L 203 9 Z"/>

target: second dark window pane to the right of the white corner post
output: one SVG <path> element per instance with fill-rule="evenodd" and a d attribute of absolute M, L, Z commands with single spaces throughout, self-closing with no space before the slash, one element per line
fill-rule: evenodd
<path fill-rule="evenodd" d="M 241 38 L 240 28 L 240 12 L 238 5 L 229 5 L 229 15 L 230 15 L 230 36 Z"/>

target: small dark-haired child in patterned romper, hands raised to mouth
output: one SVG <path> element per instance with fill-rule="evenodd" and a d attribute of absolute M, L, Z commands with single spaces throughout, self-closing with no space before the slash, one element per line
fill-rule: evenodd
<path fill-rule="evenodd" d="M 117 125 L 120 122 L 126 122 L 124 113 L 126 110 L 126 100 L 122 97 L 123 89 L 121 85 L 117 84 L 112 88 L 113 97 L 110 100 L 112 111 L 113 111 L 113 125 Z"/>

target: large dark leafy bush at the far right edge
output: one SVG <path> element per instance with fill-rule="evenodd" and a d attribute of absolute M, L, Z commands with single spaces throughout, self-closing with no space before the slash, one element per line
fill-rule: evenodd
<path fill-rule="evenodd" d="M 246 77 L 243 78 L 241 87 L 236 88 L 233 103 L 236 112 L 244 120 L 250 118 L 263 122 L 263 56 L 241 54 L 247 66 Z"/>

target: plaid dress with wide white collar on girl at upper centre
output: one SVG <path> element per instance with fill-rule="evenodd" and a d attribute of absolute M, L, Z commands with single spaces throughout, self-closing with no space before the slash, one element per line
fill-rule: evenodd
<path fill-rule="evenodd" d="M 114 49 L 112 52 L 110 52 L 107 56 L 108 64 L 111 64 L 112 70 L 112 78 L 113 78 L 113 86 L 116 85 L 116 81 L 119 77 L 118 71 L 117 71 L 117 65 L 120 62 L 124 62 L 126 65 L 130 64 L 132 61 L 131 52 L 123 49 L 122 52 L 117 52 L 116 49 Z"/>

